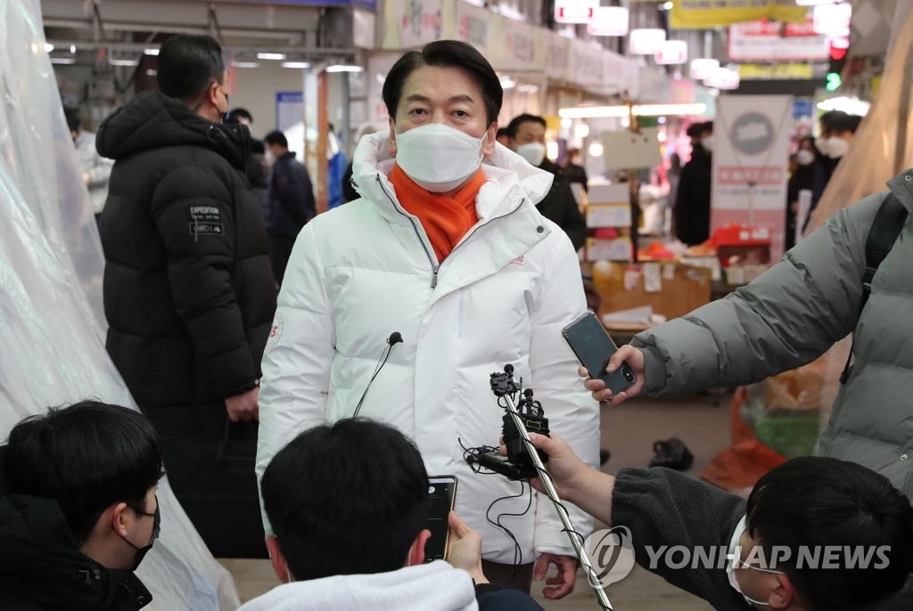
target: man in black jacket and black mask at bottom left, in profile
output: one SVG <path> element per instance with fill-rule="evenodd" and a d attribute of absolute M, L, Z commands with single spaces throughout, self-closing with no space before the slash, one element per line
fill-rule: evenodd
<path fill-rule="evenodd" d="M 16 424 L 0 446 L 0 609 L 132 611 L 159 535 L 162 450 L 132 409 L 82 401 Z"/>

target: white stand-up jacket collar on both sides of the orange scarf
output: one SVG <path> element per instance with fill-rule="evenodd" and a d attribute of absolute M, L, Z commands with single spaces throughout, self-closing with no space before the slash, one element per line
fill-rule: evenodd
<path fill-rule="evenodd" d="M 394 158 L 387 144 L 389 132 L 378 131 L 362 138 L 352 158 L 352 179 L 362 197 L 377 204 L 385 215 L 406 213 L 396 202 L 389 181 Z M 482 163 L 488 182 L 478 192 L 477 215 L 481 222 L 505 214 L 523 200 L 536 204 L 549 192 L 554 177 L 533 168 L 517 153 L 500 144 Z M 398 210 L 397 210 L 398 209 Z"/>

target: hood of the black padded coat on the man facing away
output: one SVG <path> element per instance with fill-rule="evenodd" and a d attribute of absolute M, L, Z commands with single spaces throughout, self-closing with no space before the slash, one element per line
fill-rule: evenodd
<path fill-rule="evenodd" d="M 240 123 L 214 123 L 178 99 L 147 91 L 102 121 L 95 139 L 99 154 L 113 160 L 172 146 L 214 150 L 232 166 L 244 170 L 250 133 Z"/>

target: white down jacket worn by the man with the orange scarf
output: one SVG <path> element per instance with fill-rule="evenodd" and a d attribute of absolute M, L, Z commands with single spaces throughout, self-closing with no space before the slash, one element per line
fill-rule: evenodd
<path fill-rule="evenodd" d="M 489 374 L 511 364 L 551 430 L 597 464 L 598 406 L 561 337 L 586 308 L 580 267 L 567 236 L 534 205 L 551 174 L 498 145 L 482 166 L 478 223 L 438 265 L 422 224 L 387 180 L 393 163 L 385 132 L 362 139 L 354 158 L 362 199 L 320 214 L 295 243 L 263 357 L 257 477 L 299 431 L 352 416 L 398 331 L 404 341 L 360 416 L 415 440 L 430 475 L 456 475 L 456 511 L 482 534 L 486 559 L 515 561 L 514 544 L 491 523 L 500 515 L 523 563 L 534 548 L 572 555 L 545 496 L 534 494 L 526 511 L 528 487 L 520 494 L 519 482 L 474 473 L 461 447 L 498 444 L 504 412 Z M 571 509 L 587 536 L 591 519 Z"/>

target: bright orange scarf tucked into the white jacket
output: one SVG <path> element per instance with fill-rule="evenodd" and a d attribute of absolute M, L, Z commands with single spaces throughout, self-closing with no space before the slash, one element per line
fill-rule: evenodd
<path fill-rule="evenodd" d="M 444 261 L 467 231 L 478 222 L 476 197 L 487 181 L 481 168 L 453 197 L 422 189 L 406 176 L 398 165 L 390 173 L 390 182 L 399 202 L 406 212 L 414 214 L 425 228 L 428 240 L 437 255 L 437 263 Z"/>

